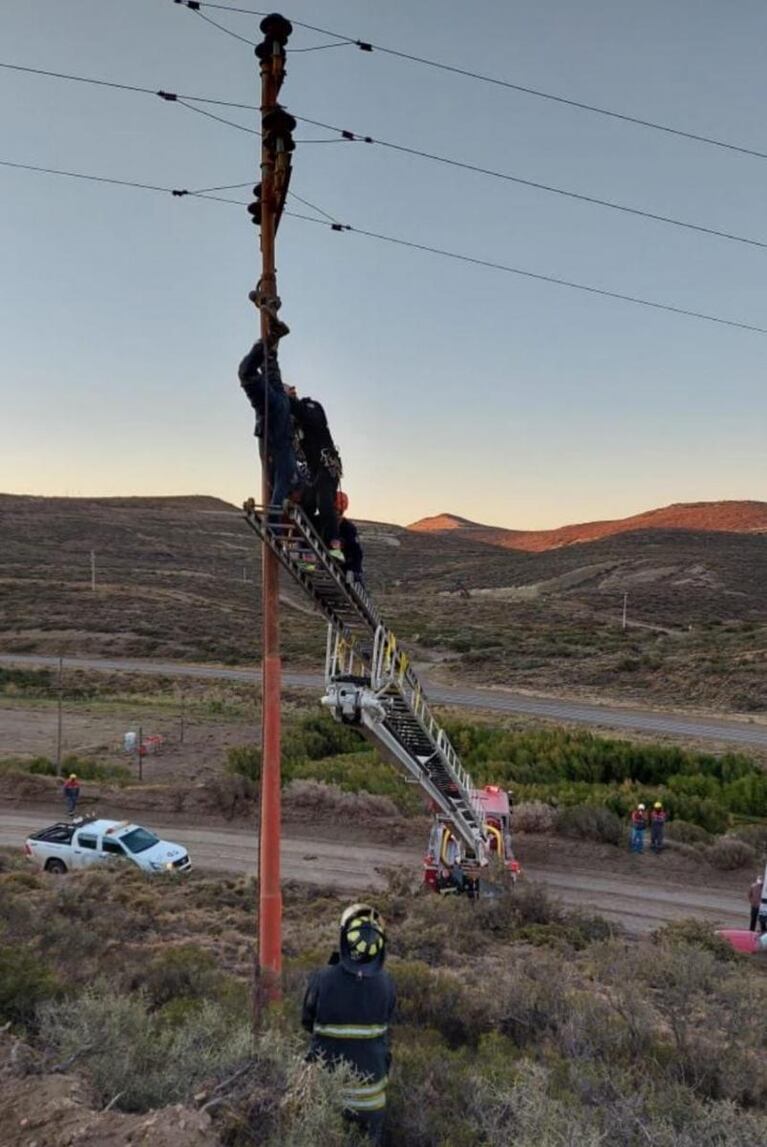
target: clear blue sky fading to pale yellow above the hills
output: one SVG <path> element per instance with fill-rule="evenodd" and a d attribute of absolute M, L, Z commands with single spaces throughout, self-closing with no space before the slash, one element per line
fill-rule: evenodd
<path fill-rule="evenodd" d="M 203 10 L 260 39 L 257 18 Z M 767 151 L 761 0 L 282 10 Z M 3 0 L 0 29 L 6 62 L 258 103 L 252 48 L 172 0 Z M 767 159 L 351 46 L 291 55 L 327 42 L 290 40 L 297 115 L 767 242 Z M 256 177 L 257 148 L 150 95 L 0 69 L 0 159 L 199 188 Z M 758 247 L 363 143 L 299 143 L 291 186 L 361 229 L 767 326 Z M 236 377 L 257 336 L 244 208 L 2 166 L 0 202 L 0 490 L 257 493 Z M 353 516 L 542 529 L 767 499 L 766 335 L 287 217 L 277 267 L 283 374 L 327 409 Z"/>

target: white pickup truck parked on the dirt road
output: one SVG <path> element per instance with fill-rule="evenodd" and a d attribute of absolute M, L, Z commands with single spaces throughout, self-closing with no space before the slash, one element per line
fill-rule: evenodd
<path fill-rule="evenodd" d="M 26 838 L 24 852 L 46 872 L 64 873 L 104 860 L 136 865 L 144 872 L 189 872 L 191 860 L 181 844 L 161 841 L 128 820 L 76 817 Z"/>

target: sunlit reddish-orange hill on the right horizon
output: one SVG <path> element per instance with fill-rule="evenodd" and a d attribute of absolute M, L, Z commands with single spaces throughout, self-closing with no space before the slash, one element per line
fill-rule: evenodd
<path fill-rule="evenodd" d="M 540 553 L 559 546 L 610 538 L 616 533 L 636 530 L 694 530 L 698 533 L 767 533 L 767 502 L 718 501 L 678 502 L 660 509 L 647 510 L 633 517 L 605 522 L 582 522 L 562 525 L 555 530 L 506 530 L 496 525 L 470 522 L 455 514 L 437 514 L 413 522 L 409 530 L 421 533 L 460 531 L 473 541 L 484 541 L 504 549 Z"/>

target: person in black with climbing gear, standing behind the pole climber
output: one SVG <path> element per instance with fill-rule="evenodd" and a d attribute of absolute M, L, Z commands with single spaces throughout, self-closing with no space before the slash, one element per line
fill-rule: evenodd
<path fill-rule="evenodd" d="M 299 398 L 295 387 L 288 387 L 288 399 L 299 450 L 312 479 L 304 487 L 302 506 L 330 551 L 330 556 L 343 563 L 336 513 L 336 492 L 343 467 L 324 407 L 314 398 Z"/>

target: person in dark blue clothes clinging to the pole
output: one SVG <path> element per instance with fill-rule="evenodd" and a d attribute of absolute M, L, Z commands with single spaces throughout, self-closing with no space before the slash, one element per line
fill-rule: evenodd
<path fill-rule="evenodd" d="M 251 291 L 249 297 L 256 306 L 264 305 L 258 290 Z M 276 317 L 276 312 L 269 313 L 268 331 L 266 345 L 261 338 L 253 343 L 240 364 L 237 374 L 240 385 L 256 411 L 255 435 L 258 438 L 261 461 L 264 450 L 267 450 L 272 506 L 282 507 L 285 499 L 298 489 L 299 479 L 294 450 L 290 400 L 282 383 L 277 360 L 280 340 L 289 333 L 289 328 Z M 266 447 L 265 431 L 268 437 Z"/>

